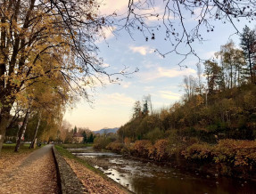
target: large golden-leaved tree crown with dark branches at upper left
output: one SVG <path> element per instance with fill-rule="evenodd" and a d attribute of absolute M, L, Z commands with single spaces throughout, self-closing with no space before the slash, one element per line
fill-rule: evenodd
<path fill-rule="evenodd" d="M 97 57 L 95 40 L 111 24 L 98 7 L 87 0 L 0 1 L 0 150 L 17 94 L 38 78 L 60 73 L 87 100 L 87 86 L 101 75 L 114 81 Z"/>

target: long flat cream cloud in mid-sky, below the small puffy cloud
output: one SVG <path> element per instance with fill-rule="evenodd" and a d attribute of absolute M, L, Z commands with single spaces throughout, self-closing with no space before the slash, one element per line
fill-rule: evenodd
<path fill-rule="evenodd" d="M 186 69 L 165 69 L 165 68 L 157 68 L 157 69 L 153 69 L 152 71 L 148 71 L 146 73 L 142 73 L 141 77 L 142 80 L 145 81 L 150 81 L 153 79 L 158 79 L 158 78 L 162 78 L 162 77 L 183 77 L 186 75 L 194 75 L 196 74 L 196 71 L 194 69 L 191 68 L 186 68 Z"/>

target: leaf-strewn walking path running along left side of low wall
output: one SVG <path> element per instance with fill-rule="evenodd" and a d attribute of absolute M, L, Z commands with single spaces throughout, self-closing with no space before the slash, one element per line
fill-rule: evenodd
<path fill-rule="evenodd" d="M 58 193 L 52 146 L 33 151 L 19 166 L 0 174 L 0 193 Z"/>

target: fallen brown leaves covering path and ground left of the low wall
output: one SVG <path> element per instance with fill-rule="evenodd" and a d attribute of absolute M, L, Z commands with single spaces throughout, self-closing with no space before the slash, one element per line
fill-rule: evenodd
<path fill-rule="evenodd" d="M 0 193 L 57 193 L 57 178 L 52 152 L 22 164 L 28 155 L 10 155 L 0 160 Z"/>

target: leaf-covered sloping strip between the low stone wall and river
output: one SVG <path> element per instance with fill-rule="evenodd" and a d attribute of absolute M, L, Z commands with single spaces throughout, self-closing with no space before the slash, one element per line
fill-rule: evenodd
<path fill-rule="evenodd" d="M 84 192 L 88 193 L 130 193 L 120 184 L 113 182 L 101 171 L 87 164 L 86 161 L 73 156 L 62 146 L 55 146 L 57 152 L 64 158 L 72 171 L 83 184 Z"/>

